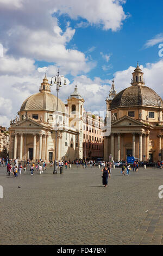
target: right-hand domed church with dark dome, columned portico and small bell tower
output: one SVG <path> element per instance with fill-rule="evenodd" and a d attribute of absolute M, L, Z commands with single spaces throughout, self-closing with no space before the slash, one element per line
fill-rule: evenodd
<path fill-rule="evenodd" d="M 157 162 L 163 159 L 163 102 L 145 85 L 143 72 L 137 64 L 131 86 L 116 94 L 114 81 L 106 98 L 106 118 L 111 131 L 104 133 L 104 160 Z"/>

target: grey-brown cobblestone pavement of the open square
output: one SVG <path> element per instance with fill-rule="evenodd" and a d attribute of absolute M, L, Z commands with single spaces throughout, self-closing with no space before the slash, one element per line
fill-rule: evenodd
<path fill-rule="evenodd" d="M 0 167 L 1 245 L 161 245 L 163 169 L 122 176 L 112 169 L 108 187 L 97 167 L 53 174 L 6 175 Z M 18 186 L 20 188 L 18 188 Z"/>

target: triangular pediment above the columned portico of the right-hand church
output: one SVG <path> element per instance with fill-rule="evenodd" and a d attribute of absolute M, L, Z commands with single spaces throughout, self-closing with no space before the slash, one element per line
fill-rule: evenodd
<path fill-rule="evenodd" d="M 139 120 L 136 120 L 135 118 L 129 117 L 128 115 L 124 115 L 124 117 L 121 117 L 114 122 L 111 123 L 111 126 L 148 126 L 145 123 L 142 123 Z"/>

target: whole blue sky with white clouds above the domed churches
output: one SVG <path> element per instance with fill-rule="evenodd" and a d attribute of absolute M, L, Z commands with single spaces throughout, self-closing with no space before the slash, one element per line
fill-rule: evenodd
<path fill-rule="evenodd" d="M 104 111 L 112 77 L 117 92 L 130 86 L 137 60 L 146 86 L 163 97 L 162 9 L 147 0 L 0 0 L 1 125 L 58 66 L 70 82 L 61 100 L 77 84 L 87 111 Z"/>

